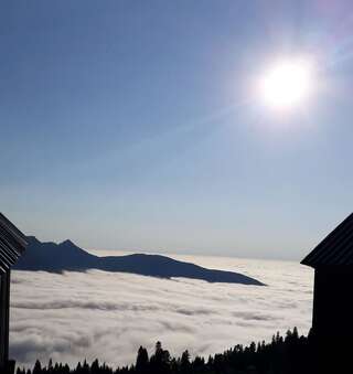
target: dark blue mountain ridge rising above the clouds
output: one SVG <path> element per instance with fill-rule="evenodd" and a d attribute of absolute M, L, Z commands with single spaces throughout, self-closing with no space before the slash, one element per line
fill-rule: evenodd
<path fill-rule="evenodd" d="M 228 282 L 263 286 L 258 280 L 232 271 L 206 269 L 201 266 L 178 261 L 159 255 L 128 255 L 98 257 L 77 247 L 71 241 L 63 243 L 42 243 L 29 236 L 29 246 L 15 264 L 18 270 L 44 270 L 61 273 L 64 270 L 85 271 L 99 269 L 105 271 L 132 273 L 160 278 L 192 278 L 210 282 Z"/>

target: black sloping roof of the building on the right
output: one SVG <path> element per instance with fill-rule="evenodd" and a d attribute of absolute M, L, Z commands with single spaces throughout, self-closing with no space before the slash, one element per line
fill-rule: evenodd
<path fill-rule="evenodd" d="M 313 268 L 353 265 L 353 213 L 329 234 L 301 264 Z"/>

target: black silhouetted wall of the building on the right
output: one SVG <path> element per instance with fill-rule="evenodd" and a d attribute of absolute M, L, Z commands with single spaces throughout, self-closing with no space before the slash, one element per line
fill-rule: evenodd
<path fill-rule="evenodd" d="M 312 317 L 313 374 L 353 373 L 353 268 L 319 268 Z"/>

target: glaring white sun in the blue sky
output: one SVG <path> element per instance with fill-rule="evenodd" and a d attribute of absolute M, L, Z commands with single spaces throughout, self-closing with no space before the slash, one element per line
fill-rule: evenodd
<path fill-rule="evenodd" d="M 313 89 L 312 63 L 306 60 L 279 61 L 264 73 L 258 88 L 261 100 L 275 109 L 306 104 Z"/>

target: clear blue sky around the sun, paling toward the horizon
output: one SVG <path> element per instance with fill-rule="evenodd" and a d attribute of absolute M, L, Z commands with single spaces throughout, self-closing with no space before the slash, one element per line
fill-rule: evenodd
<path fill-rule="evenodd" d="M 0 210 L 90 249 L 300 259 L 352 211 L 351 1 L 2 1 Z M 278 56 L 315 61 L 297 109 Z"/>

